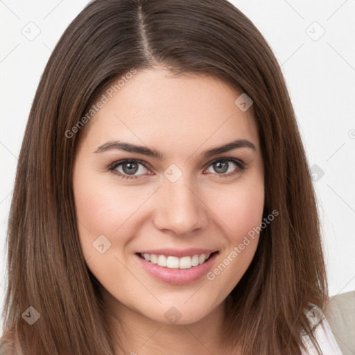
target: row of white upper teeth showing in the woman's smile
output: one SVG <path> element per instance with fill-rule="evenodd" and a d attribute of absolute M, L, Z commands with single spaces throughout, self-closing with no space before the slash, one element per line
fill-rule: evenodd
<path fill-rule="evenodd" d="M 155 254 L 141 254 L 146 261 L 150 261 L 150 263 L 156 263 L 159 266 L 163 266 L 164 268 L 171 269 L 189 269 L 193 266 L 198 266 L 201 263 L 204 263 L 211 254 L 196 254 L 193 257 L 171 257 L 164 255 L 155 255 Z"/>

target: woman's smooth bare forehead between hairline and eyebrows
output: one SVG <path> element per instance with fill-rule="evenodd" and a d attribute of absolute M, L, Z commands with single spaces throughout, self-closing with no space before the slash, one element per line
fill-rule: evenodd
<path fill-rule="evenodd" d="M 137 71 L 116 92 L 108 87 L 98 95 L 94 104 L 103 96 L 105 103 L 89 122 L 85 140 L 94 146 L 122 139 L 173 151 L 236 139 L 258 146 L 252 109 L 243 112 L 234 103 L 240 95 L 211 76 L 173 76 L 160 68 Z"/>

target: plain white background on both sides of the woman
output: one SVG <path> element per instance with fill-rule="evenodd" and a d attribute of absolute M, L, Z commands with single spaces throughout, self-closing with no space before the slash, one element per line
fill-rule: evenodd
<path fill-rule="evenodd" d="M 318 173 L 314 185 L 330 294 L 353 291 L 355 0 L 232 3 L 253 21 L 274 51 L 295 107 L 309 164 L 324 171 L 322 177 Z M 28 113 L 51 50 L 86 4 L 83 0 L 0 0 L 1 307 L 6 288 L 7 219 Z M 36 31 L 40 34 L 33 40 L 23 34 L 31 36 Z"/>

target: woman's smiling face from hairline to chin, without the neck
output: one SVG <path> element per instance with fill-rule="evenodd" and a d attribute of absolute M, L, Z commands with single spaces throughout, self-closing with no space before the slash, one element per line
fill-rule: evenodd
<path fill-rule="evenodd" d="M 220 80 L 162 68 L 103 94 L 73 175 L 87 266 L 116 306 L 162 323 L 202 320 L 257 248 L 264 184 L 252 110 Z"/>

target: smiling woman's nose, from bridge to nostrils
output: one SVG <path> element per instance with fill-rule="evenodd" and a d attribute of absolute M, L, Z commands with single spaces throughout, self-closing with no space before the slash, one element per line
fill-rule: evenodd
<path fill-rule="evenodd" d="M 155 196 L 155 227 L 181 236 L 202 230 L 208 224 L 209 208 L 200 195 L 198 187 L 184 175 L 175 182 L 164 179 Z"/>

